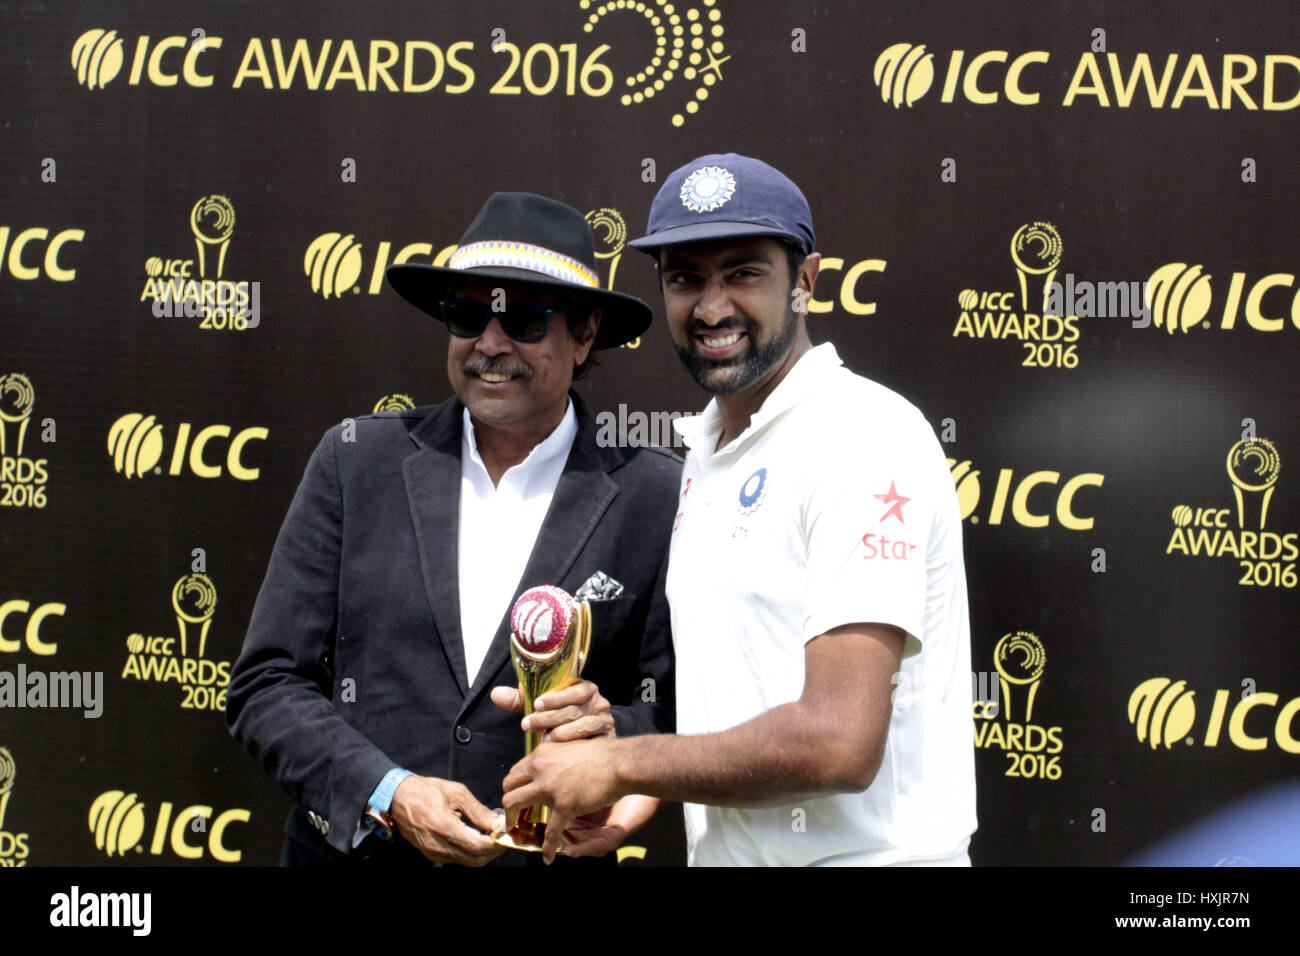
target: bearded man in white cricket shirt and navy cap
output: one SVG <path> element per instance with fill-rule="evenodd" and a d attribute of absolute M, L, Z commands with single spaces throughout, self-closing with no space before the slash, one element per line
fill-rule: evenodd
<path fill-rule="evenodd" d="M 677 352 L 714 394 L 676 423 L 681 736 L 543 744 L 506 778 L 506 809 L 554 806 L 549 855 L 573 816 L 646 793 L 686 804 L 693 865 L 968 865 L 957 496 L 920 412 L 809 341 L 803 194 L 758 160 L 703 156 L 630 245 L 656 256 Z"/>

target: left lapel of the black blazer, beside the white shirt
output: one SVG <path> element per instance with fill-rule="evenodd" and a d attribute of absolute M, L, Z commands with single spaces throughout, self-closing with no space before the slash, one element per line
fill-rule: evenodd
<path fill-rule="evenodd" d="M 443 402 L 411 429 L 421 446 L 402 462 L 429 609 L 462 696 L 468 691 L 460 636 L 460 431 L 458 401 Z"/>

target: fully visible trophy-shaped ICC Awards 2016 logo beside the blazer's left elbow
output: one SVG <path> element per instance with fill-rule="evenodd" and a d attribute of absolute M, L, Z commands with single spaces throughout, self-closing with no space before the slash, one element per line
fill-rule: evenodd
<path fill-rule="evenodd" d="M 187 574 L 172 588 L 174 635 L 133 633 L 126 639 L 122 679 L 174 683 L 182 710 L 225 710 L 230 661 L 208 659 L 208 631 L 217 589 L 205 574 Z"/>

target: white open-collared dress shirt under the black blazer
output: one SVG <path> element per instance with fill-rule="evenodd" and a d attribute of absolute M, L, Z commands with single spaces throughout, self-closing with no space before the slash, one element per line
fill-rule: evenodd
<path fill-rule="evenodd" d="M 493 486 L 478 457 L 474 427 L 464 410 L 460 438 L 460 635 L 465 671 L 473 685 L 502 618 L 519 588 L 549 581 L 520 581 L 537 532 L 555 497 L 573 438 L 577 415 L 569 401 L 555 431 Z"/>

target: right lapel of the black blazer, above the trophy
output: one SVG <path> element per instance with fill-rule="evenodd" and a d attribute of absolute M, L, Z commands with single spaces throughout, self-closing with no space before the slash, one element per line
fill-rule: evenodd
<path fill-rule="evenodd" d="M 537 532 L 537 541 L 524 567 L 524 575 L 515 585 L 515 598 L 540 584 L 556 587 L 560 584 L 577 561 L 577 555 L 586 548 L 588 538 L 610 507 L 610 502 L 619 493 L 618 484 L 607 472 L 621 464 L 623 457 L 614 449 L 603 449 L 595 444 L 595 420 L 577 394 L 571 392 L 569 397 L 573 399 L 573 411 L 577 415 L 577 436 L 573 438 L 573 447 L 564 463 L 560 481 L 555 486 L 555 497 L 551 498 L 546 519 Z M 515 600 L 512 598 L 510 604 L 511 607 L 506 609 L 504 617 L 497 626 L 497 633 L 488 648 L 482 667 L 478 669 L 474 685 L 469 689 L 465 709 L 473 706 L 491 687 L 497 671 L 510 659 L 510 611 Z"/>

